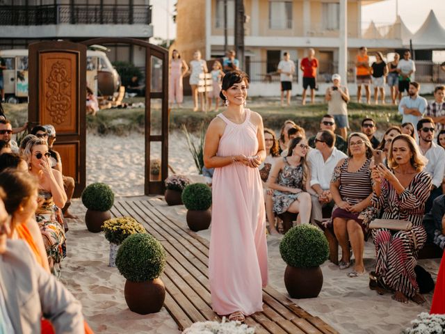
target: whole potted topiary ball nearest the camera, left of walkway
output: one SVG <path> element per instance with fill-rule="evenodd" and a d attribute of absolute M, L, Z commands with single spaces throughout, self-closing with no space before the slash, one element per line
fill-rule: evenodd
<path fill-rule="evenodd" d="M 140 315 L 159 312 L 165 301 L 165 287 L 159 278 L 165 267 L 165 250 L 152 235 L 132 234 L 122 242 L 116 266 L 124 278 L 125 301 Z"/>

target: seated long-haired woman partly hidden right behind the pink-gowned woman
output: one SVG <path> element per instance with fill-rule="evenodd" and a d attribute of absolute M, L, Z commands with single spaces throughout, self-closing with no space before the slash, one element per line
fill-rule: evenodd
<path fill-rule="evenodd" d="M 261 176 L 261 180 L 263 181 L 264 201 L 266 202 L 266 216 L 269 223 L 269 232 L 270 234 L 279 234 L 275 228 L 275 216 L 273 214 L 273 190 L 268 189 L 266 182 L 270 170 L 273 165 L 275 165 L 275 161 L 280 157 L 280 154 L 278 153 L 280 152 L 280 148 L 278 146 L 278 141 L 275 138 L 275 132 L 266 127 L 264 128 L 264 143 L 266 145 L 266 159 L 259 166 L 259 176 Z"/>

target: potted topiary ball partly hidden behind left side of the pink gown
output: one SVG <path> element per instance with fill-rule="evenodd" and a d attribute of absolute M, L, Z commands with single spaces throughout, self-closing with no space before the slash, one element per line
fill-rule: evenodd
<path fill-rule="evenodd" d="M 182 191 L 182 202 L 188 209 L 187 225 L 192 231 L 207 230 L 211 222 L 211 189 L 207 184 L 194 183 Z"/>

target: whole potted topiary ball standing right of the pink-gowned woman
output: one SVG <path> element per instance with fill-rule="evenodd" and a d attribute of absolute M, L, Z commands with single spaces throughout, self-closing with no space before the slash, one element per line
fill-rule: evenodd
<path fill-rule="evenodd" d="M 329 257 L 329 245 L 314 225 L 291 228 L 280 242 L 280 254 L 287 267 L 284 285 L 291 298 L 315 298 L 323 286 L 320 265 Z"/>

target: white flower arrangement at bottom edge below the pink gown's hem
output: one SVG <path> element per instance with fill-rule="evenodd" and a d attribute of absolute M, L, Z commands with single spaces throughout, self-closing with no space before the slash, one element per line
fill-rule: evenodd
<path fill-rule="evenodd" d="M 226 321 L 223 317 L 221 322 L 205 321 L 195 322 L 192 326 L 186 328 L 182 334 L 254 334 L 255 328 L 240 321 Z"/>

